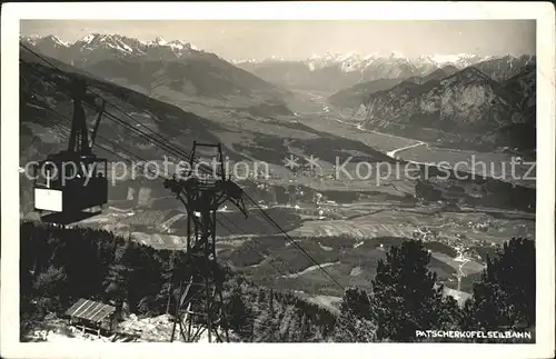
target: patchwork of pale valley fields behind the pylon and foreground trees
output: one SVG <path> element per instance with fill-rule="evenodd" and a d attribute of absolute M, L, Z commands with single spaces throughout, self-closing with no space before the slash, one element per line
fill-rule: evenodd
<path fill-rule="evenodd" d="M 465 276 L 475 275 L 484 269 L 485 253 L 490 252 L 493 246 L 513 236 L 533 237 L 535 228 L 530 215 L 506 218 L 496 211 L 449 212 L 435 205 L 401 208 L 385 199 L 374 201 L 373 197 L 353 203 L 316 207 L 299 201 L 298 205 L 267 210 L 298 246 L 345 287 L 368 288 L 377 262 L 385 258 L 388 247 L 413 238 L 415 231 L 435 230 L 436 236 L 426 239 L 431 252 L 429 268 L 441 282 L 455 289 L 455 277 L 461 265 L 455 260 L 455 248 L 467 248 L 468 261 L 461 270 Z M 112 206 L 80 226 L 108 229 L 155 248 L 182 250 L 186 213 L 179 206 L 177 201 L 176 209 L 167 210 Z M 217 250 L 221 261 L 261 285 L 331 296 L 332 299 L 322 297 L 328 298 L 322 300 L 332 302 L 341 296 L 314 262 L 265 223 L 257 210 L 251 210 L 247 220 L 230 208 L 217 218 L 220 222 Z M 468 285 L 465 289 L 469 290 Z"/>

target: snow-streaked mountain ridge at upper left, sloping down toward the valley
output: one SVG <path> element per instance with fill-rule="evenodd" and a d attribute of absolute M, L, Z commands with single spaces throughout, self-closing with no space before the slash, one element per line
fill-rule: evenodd
<path fill-rule="evenodd" d="M 225 101 L 231 107 L 238 101 L 241 106 L 285 106 L 284 98 L 290 96 L 289 91 L 186 41 L 157 38 L 145 42 L 103 33 L 90 33 L 75 42 L 56 36 L 21 37 L 20 41 L 42 54 L 177 104 L 201 98 Z"/>

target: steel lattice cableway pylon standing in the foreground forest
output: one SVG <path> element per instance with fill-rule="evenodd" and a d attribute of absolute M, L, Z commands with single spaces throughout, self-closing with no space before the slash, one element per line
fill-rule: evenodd
<path fill-rule="evenodd" d="M 199 173 L 200 167 L 195 159 L 198 147 L 217 150 L 219 173 L 210 173 L 216 167 L 205 167 L 203 170 L 209 173 Z M 226 178 L 220 144 L 193 141 L 189 164 L 189 170 L 180 173 L 179 179 L 175 176 L 165 181 L 165 187 L 177 195 L 187 210 L 187 263 L 180 263 L 178 271 L 180 277 L 188 280 L 182 281 L 178 290 L 170 341 L 175 339 L 176 327 L 179 327 L 181 337 L 187 342 L 196 341 L 205 330 L 209 341 L 212 341 L 212 336 L 217 341 L 229 341 L 222 301 L 225 276 L 216 258 L 216 211 L 226 201 L 231 201 L 247 217 L 242 190 Z M 221 329 L 224 336 L 218 329 Z"/>

